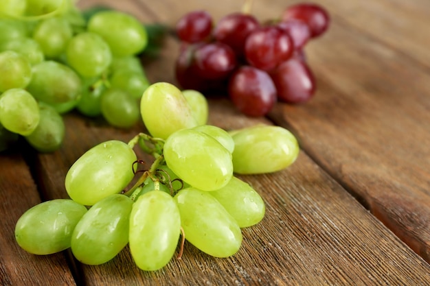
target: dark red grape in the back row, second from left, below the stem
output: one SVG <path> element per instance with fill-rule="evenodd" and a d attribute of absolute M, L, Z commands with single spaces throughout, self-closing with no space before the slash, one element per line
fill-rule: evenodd
<path fill-rule="evenodd" d="M 260 24 L 250 14 L 232 13 L 224 16 L 214 28 L 214 37 L 218 42 L 225 43 L 242 56 L 247 36 Z"/>

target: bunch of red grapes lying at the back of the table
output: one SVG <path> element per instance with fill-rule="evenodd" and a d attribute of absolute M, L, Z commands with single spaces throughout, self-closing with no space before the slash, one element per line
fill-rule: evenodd
<path fill-rule="evenodd" d="M 204 10 L 189 12 L 176 26 L 182 43 L 177 81 L 202 93 L 225 91 L 238 110 L 253 117 L 266 115 L 277 101 L 306 102 L 315 93 L 315 78 L 304 46 L 326 32 L 329 22 L 328 12 L 315 3 L 288 6 L 271 23 L 234 12 L 214 25 Z"/>

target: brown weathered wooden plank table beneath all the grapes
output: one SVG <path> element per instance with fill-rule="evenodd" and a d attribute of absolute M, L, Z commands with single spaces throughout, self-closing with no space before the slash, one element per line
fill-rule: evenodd
<path fill-rule="evenodd" d="M 253 14 L 279 16 L 295 1 L 254 1 Z M 0 154 L 0 285 L 430 285 L 430 2 L 318 1 L 330 29 L 306 47 L 317 78 L 307 104 L 277 104 L 266 118 L 240 115 L 210 100 L 210 123 L 225 129 L 273 123 L 299 139 L 297 161 L 284 171 L 241 176 L 259 191 L 267 214 L 243 230 L 234 257 L 214 259 L 189 243 L 181 260 L 143 272 L 128 249 L 100 266 L 69 252 L 35 256 L 14 241 L 19 216 L 38 202 L 67 198 L 67 169 L 117 130 L 71 112 L 63 147 L 52 154 Z M 185 12 L 214 19 L 242 1 L 81 0 L 109 5 L 144 23 L 172 27 Z M 168 37 L 146 65 L 152 82 L 175 82 L 179 43 Z"/>

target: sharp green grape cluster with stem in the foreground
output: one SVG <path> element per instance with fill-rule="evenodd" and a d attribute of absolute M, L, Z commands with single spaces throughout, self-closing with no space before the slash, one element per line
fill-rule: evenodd
<path fill-rule="evenodd" d="M 241 228 L 258 224 L 265 205 L 236 174 L 288 167 L 299 153 L 295 136 L 279 126 L 208 125 L 205 97 L 166 82 L 146 89 L 140 113 L 149 134 L 95 145 L 67 171 L 69 198 L 23 213 L 15 228 L 21 248 L 71 248 L 78 261 L 99 265 L 128 244 L 146 271 L 167 265 L 178 246 L 181 256 L 185 239 L 213 257 L 238 252 Z M 153 156 L 149 169 L 139 168 L 135 147 Z"/>

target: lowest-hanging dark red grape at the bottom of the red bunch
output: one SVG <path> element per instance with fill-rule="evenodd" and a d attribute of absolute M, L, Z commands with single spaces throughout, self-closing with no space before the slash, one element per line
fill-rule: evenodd
<path fill-rule="evenodd" d="M 231 75 L 229 97 L 245 115 L 266 115 L 276 102 L 276 88 L 269 74 L 256 67 L 243 66 Z"/>

